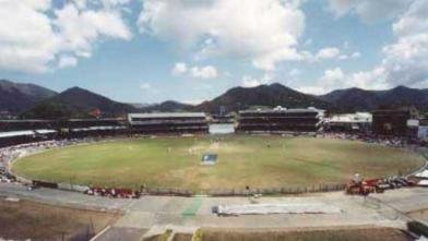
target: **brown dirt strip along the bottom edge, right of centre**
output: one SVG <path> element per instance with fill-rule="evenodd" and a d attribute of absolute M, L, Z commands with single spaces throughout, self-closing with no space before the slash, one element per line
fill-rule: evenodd
<path fill-rule="evenodd" d="M 301 230 L 203 229 L 201 241 L 411 241 L 412 238 L 393 228 L 342 228 Z"/>

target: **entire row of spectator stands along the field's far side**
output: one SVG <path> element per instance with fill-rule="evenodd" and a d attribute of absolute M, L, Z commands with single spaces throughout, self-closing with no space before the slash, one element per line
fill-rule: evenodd
<path fill-rule="evenodd" d="M 226 120 L 226 121 L 221 121 Z M 211 124 L 233 124 L 237 133 L 353 133 L 401 137 L 425 144 L 428 123 L 414 109 L 380 109 L 372 113 L 328 115 L 307 109 L 242 110 L 234 118 L 204 112 L 129 113 L 128 118 L 70 120 L 0 120 L 0 147 L 47 140 L 118 135 L 207 134 Z"/>

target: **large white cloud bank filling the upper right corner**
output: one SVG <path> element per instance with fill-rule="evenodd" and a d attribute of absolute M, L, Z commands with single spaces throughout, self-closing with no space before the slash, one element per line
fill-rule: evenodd
<path fill-rule="evenodd" d="M 396 19 L 392 24 L 395 38 L 383 47 L 382 61 L 371 71 L 346 74 L 347 85 L 367 88 L 428 86 L 428 1 L 330 0 L 330 3 L 337 14 L 354 11 L 366 21 L 372 20 L 370 14 Z M 385 11 L 390 12 L 385 15 Z M 352 57 L 359 58 L 360 53 L 355 52 Z"/>

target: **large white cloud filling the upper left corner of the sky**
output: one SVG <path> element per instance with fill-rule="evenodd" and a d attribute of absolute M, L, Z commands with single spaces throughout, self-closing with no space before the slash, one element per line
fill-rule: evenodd
<path fill-rule="evenodd" d="M 100 37 L 131 38 L 121 10 L 102 2 L 97 9 L 78 10 L 78 2 L 56 9 L 50 0 L 0 1 L 0 69 L 46 72 L 63 67 L 63 59 L 57 62 L 61 56 L 91 57 Z"/>

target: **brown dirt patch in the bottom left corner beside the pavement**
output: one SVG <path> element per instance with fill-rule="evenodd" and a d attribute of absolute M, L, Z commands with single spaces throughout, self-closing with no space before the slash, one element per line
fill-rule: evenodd
<path fill-rule="evenodd" d="M 0 238 L 12 240 L 88 240 L 119 214 L 0 200 Z"/>

